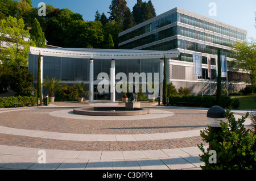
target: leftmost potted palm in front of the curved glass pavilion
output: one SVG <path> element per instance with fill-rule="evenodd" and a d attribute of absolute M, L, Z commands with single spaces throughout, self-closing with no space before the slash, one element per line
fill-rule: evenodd
<path fill-rule="evenodd" d="M 61 85 L 59 84 L 61 80 L 56 79 L 55 77 L 50 79 L 46 76 L 46 79 L 43 80 L 43 86 L 49 91 L 49 102 L 54 102 L 54 92 L 59 90 Z"/>

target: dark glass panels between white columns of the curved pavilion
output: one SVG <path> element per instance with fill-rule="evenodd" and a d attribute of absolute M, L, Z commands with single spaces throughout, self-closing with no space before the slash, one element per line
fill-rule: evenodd
<path fill-rule="evenodd" d="M 28 68 L 35 75 L 35 82 L 38 79 L 38 57 L 30 54 L 28 61 Z M 55 77 L 66 82 L 89 82 L 89 61 L 80 58 L 43 56 L 43 78 L 48 75 L 50 78 Z M 111 60 L 94 59 L 93 64 L 94 81 L 100 73 L 107 73 L 110 81 Z M 129 73 L 152 73 L 152 81 L 154 81 L 154 73 L 159 73 L 160 70 L 159 64 L 160 59 L 115 60 L 115 74 L 125 73 L 128 79 Z"/>

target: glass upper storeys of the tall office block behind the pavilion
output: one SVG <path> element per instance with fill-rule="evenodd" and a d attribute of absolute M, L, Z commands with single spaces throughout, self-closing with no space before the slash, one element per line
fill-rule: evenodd
<path fill-rule="evenodd" d="M 191 15 L 180 13 L 178 9 L 176 11 L 172 11 L 174 13 L 171 15 L 154 20 L 154 22 L 148 23 L 137 30 L 124 35 L 121 33 L 121 36 L 119 36 L 121 42 L 119 48 L 163 51 L 183 49 L 217 54 L 217 47 L 221 45 L 224 46 L 221 48 L 221 54 L 226 54 L 227 57 L 230 57 L 230 45 L 236 43 L 236 41 L 247 40 L 245 31 L 238 31 L 237 28 L 232 28 L 231 26 L 227 28 L 229 26 L 223 26 L 222 23 L 216 24 L 212 23 L 213 21 L 210 22 L 210 20 L 203 20 L 205 18 L 195 18 Z M 184 25 L 181 23 L 184 23 Z M 154 32 L 150 33 L 151 31 Z M 192 62 L 192 54 L 181 53 L 176 60 Z M 207 61 L 204 60 L 206 60 L 206 57 L 203 57 L 203 64 L 207 64 Z M 212 65 L 214 64 L 214 61 L 212 61 Z"/>

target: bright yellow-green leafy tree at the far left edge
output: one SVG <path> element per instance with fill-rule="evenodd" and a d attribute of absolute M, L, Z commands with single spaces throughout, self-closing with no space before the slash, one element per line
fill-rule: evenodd
<path fill-rule="evenodd" d="M 9 16 L 0 20 L 0 41 L 5 41 L 7 48 L 2 49 L 0 60 L 4 65 L 27 66 L 28 51 L 34 46 L 34 41 L 29 40 L 30 33 L 24 29 L 23 19 Z"/>

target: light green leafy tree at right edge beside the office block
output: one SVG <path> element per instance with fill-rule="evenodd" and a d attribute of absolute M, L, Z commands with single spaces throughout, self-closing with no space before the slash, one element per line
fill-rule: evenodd
<path fill-rule="evenodd" d="M 256 81 L 256 41 L 237 42 L 232 45 L 232 54 L 236 58 L 234 60 L 235 68 L 244 69 L 250 77 L 251 90 L 254 92 Z"/>

